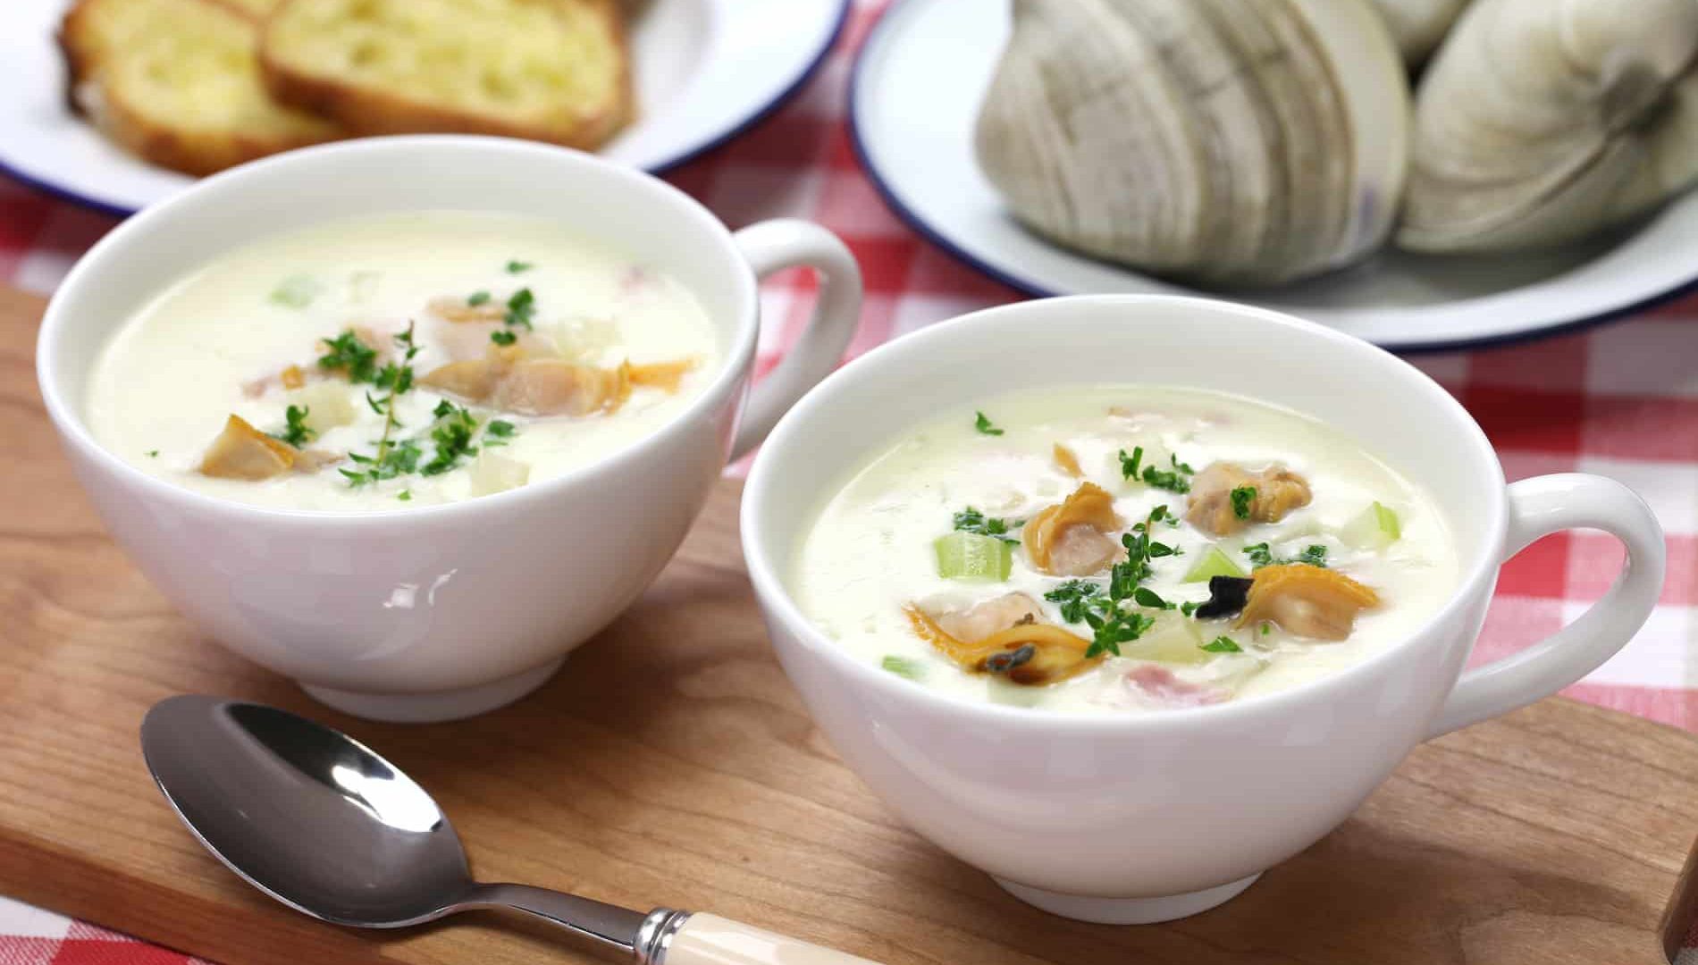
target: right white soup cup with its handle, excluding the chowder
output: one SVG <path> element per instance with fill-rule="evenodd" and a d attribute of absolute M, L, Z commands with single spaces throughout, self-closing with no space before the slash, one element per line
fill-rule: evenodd
<path fill-rule="evenodd" d="M 1127 717 L 944 697 L 852 657 L 796 607 L 791 564 L 813 516 L 903 428 L 987 394 L 1112 382 L 1250 394 L 1353 437 L 1443 511 L 1460 561 L 1450 601 L 1399 644 L 1313 683 Z M 1577 527 L 1627 544 L 1615 586 L 1549 639 L 1462 673 L 1503 561 Z M 1645 622 L 1664 567 L 1662 532 L 1639 496 L 1577 474 L 1504 486 L 1467 411 L 1397 357 L 1284 314 L 1165 296 L 997 308 L 851 362 L 761 449 L 742 540 L 779 661 L 844 761 L 908 826 L 1014 895 L 1122 924 L 1231 899 L 1345 821 L 1418 742 L 1579 680 Z"/>

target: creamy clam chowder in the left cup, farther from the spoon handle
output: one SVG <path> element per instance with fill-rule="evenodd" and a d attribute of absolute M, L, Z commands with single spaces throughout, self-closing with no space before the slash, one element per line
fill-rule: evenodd
<path fill-rule="evenodd" d="M 538 482 L 623 449 L 711 379 L 667 275 L 518 216 L 431 212 L 260 241 L 104 348 L 95 438 L 212 496 L 374 511 Z"/>

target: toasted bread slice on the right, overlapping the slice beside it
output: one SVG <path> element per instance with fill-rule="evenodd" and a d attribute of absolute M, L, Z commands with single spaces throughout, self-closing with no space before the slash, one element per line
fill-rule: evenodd
<path fill-rule="evenodd" d="M 360 134 L 594 148 L 632 114 L 613 0 L 284 0 L 260 65 L 273 97 Z"/>

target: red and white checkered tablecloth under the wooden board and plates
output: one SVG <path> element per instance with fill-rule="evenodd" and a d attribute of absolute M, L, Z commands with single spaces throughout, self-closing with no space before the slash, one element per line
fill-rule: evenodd
<path fill-rule="evenodd" d="M 841 234 L 866 272 L 866 309 L 851 355 L 1020 297 L 903 226 L 854 161 L 844 121 L 849 59 L 883 5 L 857 0 L 837 51 L 796 100 L 669 175 L 734 228 L 798 216 Z M 0 280 L 51 292 L 112 224 L 0 175 Z M 810 297 L 812 280 L 801 274 L 764 287 L 761 372 L 795 338 Z M 1511 479 L 1598 472 L 1650 501 L 1669 539 L 1661 605 L 1625 651 L 1566 693 L 1698 731 L 1698 296 L 1579 335 L 1423 355 L 1414 364 L 1486 426 Z M 1549 635 L 1596 600 L 1620 566 L 1620 544 L 1593 532 L 1547 537 L 1521 552 L 1503 569 L 1474 659 Z M 0 965 L 115 962 L 188 960 L 0 897 Z"/>

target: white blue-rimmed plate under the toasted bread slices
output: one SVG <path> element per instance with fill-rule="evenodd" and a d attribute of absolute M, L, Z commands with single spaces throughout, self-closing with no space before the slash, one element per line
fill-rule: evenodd
<path fill-rule="evenodd" d="M 650 173 L 749 129 L 825 61 L 851 0 L 650 0 L 630 24 L 637 121 L 601 155 Z M 73 116 L 54 34 L 65 0 L 0 2 L 0 170 L 109 214 L 194 178 L 149 165 Z"/>

